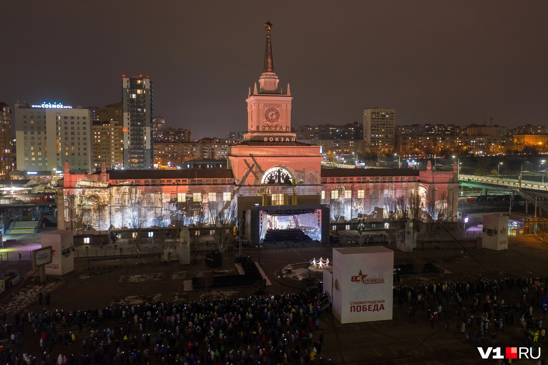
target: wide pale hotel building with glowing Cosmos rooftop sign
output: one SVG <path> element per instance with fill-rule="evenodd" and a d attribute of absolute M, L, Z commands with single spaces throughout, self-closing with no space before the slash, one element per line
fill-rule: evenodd
<path fill-rule="evenodd" d="M 74 172 L 90 169 L 92 123 L 88 109 L 44 102 L 15 104 L 14 113 L 18 170 L 52 175 L 64 169 L 66 161 Z"/>

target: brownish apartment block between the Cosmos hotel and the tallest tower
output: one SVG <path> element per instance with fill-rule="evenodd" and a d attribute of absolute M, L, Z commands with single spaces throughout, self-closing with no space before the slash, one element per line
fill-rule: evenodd
<path fill-rule="evenodd" d="M 122 168 L 124 149 L 122 102 L 105 107 L 88 107 L 92 124 L 92 168 Z"/>

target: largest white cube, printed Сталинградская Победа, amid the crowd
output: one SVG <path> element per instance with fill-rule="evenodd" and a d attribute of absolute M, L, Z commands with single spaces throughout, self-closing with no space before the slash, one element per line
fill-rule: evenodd
<path fill-rule="evenodd" d="M 334 248 L 335 318 L 341 323 L 391 320 L 393 267 L 394 252 L 383 246 Z"/>

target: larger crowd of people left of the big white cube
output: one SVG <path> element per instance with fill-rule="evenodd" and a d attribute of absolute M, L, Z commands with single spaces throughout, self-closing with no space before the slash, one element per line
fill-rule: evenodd
<path fill-rule="evenodd" d="M 318 306 L 325 298 L 301 293 L 87 311 L 25 311 L 15 315 L 14 324 L 3 317 L 3 335 L 14 340 L 6 351 L 0 349 L 0 363 L 327 365 L 332 361 L 322 356 Z M 38 359 L 30 351 L 20 353 L 21 339 L 29 331 L 31 338 L 38 337 Z M 63 355 L 68 349 L 64 346 L 75 346 L 82 334 L 81 355 Z"/>

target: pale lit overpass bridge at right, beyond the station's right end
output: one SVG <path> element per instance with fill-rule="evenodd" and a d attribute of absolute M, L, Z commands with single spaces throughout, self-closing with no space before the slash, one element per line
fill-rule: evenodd
<path fill-rule="evenodd" d="M 548 183 L 539 183 L 538 181 L 526 181 L 521 179 L 505 179 L 496 176 L 475 176 L 459 174 L 459 185 L 473 187 L 482 190 L 482 195 L 487 195 L 489 190 L 506 191 L 512 194 L 518 194 L 526 200 L 526 213 L 528 211 L 527 202 L 535 203 L 536 207 L 548 212 Z"/>

